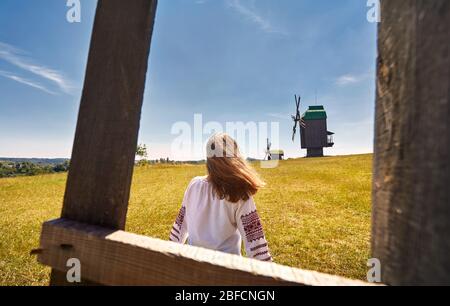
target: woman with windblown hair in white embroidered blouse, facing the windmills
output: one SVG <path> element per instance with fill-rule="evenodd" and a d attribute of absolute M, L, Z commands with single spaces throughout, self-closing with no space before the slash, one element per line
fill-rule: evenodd
<path fill-rule="evenodd" d="M 194 178 L 170 232 L 170 240 L 272 261 L 253 195 L 264 185 L 227 134 L 208 141 L 208 176 Z"/>

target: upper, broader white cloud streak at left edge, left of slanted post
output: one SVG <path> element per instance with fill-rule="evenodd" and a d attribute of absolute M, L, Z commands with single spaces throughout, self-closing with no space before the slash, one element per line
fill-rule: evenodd
<path fill-rule="evenodd" d="M 30 59 L 23 56 L 23 51 L 11 45 L 0 42 L 0 59 L 56 84 L 59 89 L 65 93 L 71 93 L 71 90 L 73 89 L 70 81 L 68 81 L 60 72 L 33 63 Z"/>

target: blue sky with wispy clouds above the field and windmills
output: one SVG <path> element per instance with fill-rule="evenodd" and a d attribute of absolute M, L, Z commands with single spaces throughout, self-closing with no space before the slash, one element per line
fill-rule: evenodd
<path fill-rule="evenodd" d="M 150 157 L 175 122 L 272 122 L 291 141 L 294 94 L 328 112 L 336 146 L 372 151 L 376 24 L 365 0 L 160 0 L 141 119 Z M 0 156 L 70 157 L 96 1 L 0 2 Z M 205 137 L 207 137 L 205 135 Z M 185 159 L 193 158 L 189 153 Z"/>

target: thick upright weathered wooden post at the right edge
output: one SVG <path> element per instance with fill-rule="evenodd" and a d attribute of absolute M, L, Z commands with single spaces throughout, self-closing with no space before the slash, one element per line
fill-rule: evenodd
<path fill-rule="evenodd" d="M 381 3 L 373 257 L 391 285 L 450 284 L 450 1 Z"/>

